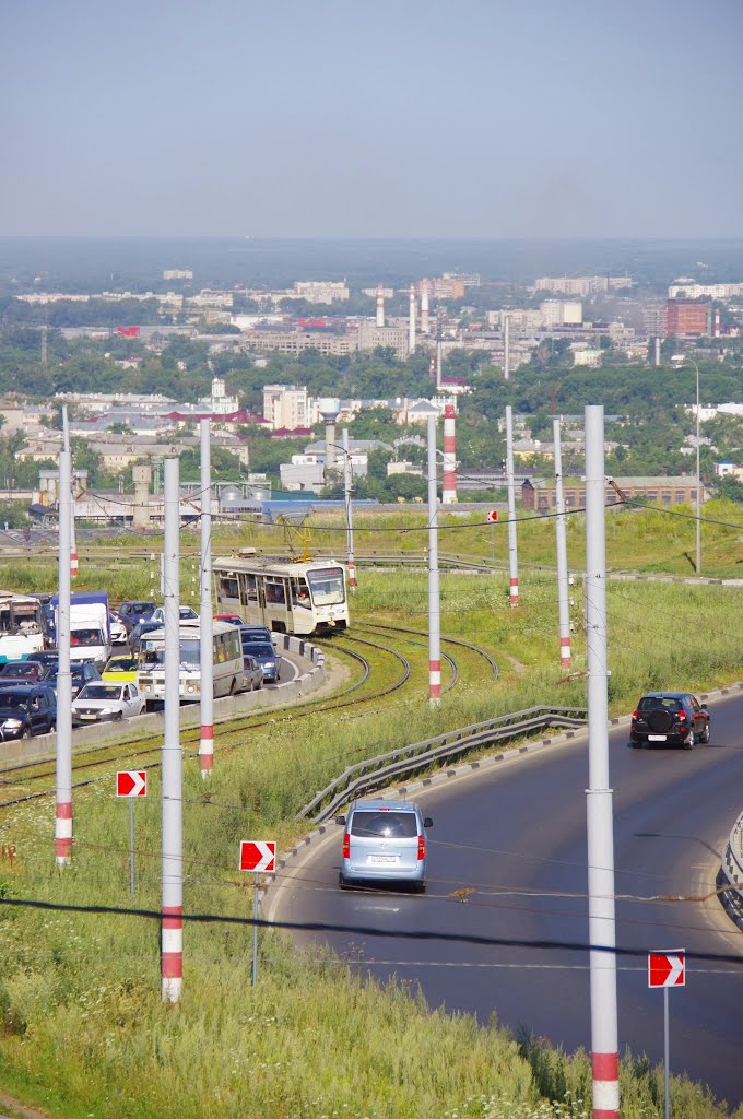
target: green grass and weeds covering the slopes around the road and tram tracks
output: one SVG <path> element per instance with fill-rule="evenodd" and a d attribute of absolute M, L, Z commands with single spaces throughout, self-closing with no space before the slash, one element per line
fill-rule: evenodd
<path fill-rule="evenodd" d="M 726 509 L 720 519 L 728 519 Z M 465 526 L 444 536 L 443 551 L 491 558 L 490 526 L 471 518 L 442 520 Z M 618 511 L 609 521 L 610 566 L 687 573 L 684 556 L 693 548 L 693 520 L 660 511 Z M 375 529 L 375 547 L 389 549 L 395 542 L 399 547 L 410 538 L 414 549 L 422 548 L 421 514 L 408 510 L 394 526 L 396 532 L 392 521 Z M 496 527 L 495 555 L 502 566 L 505 526 Z M 568 547 L 576 571 L 582 532 L 582 518 L 572 518 Z M 275 548 L 275 530 L 263 528 L 251 529 L 239 543 L 261 546 L 264 538 Z M 340 525 L 317 538 L 342 555 Z M 150 796 L 135 805 L 133 897 L 128 806 L 112 796 L 112 780 L 75 791 L 75 853 L 64 873 L 54 865 L 54 805 L 31 800 L 6 815 L 0 897 L 53 906 L 0 905 L 0 1076 L 7 1091 L 65 1119 L 590 1115 L 585 1053 L 545 1047 L 529 1036 L 528 1023 L 523 1036 L 512 1036 L 498 1025 L 497 1002 L 485 1026 L 468 1016 L 431 1012 L 414 986 L 383 988 L 363 980 L 354 960 L 318 951 L 298 955 L 280 933 L 261 935 L 257 985 L 252 988 L 252 929 L 246 921 L 252 876 L 236 869 L 238 844 L 247 836 L 272 836 L 280 850 L 289 848 L 303 830 L 295 814 L 350 762 L 537 703 L 585 706 L 582 583 L 576 579 L 573 585 L 574 670 L 565 678 L 555 577 L 548 570 L 552 538 L 552 520 L 523 526 L 517 610 L 509 606 L 502 570 L 442 574 L 442 634 L 487 648 L 499 665 L 496 683 L 470 674 L 434 709 L 418 666 L 418 697 L 402 702 L 393 694 L 374 713 L 352 718 L 313 715 L 302 724 L 301 741 L 291 718 L 282 716 L 265 731 L 252 731 L 243 749 L 220 752 L 217 735 L 208 790 L 196 759 L 185 760 L 186 908 L 213 920 L 187 923 L 184 997 L 177 1007 L 160 1002 L 157 772 L 151 772 Z M 236 543 L 236 536 L 223 542 L 225 549 Z M 705 526 L 708 574 L 737 573 L 737 548 L 736 529 Z M 105 571 L 109 563 L 115 570 Z M 150 598 L 151 566 L 122 557 L 103 565 L 83 563 L 76 585 L 100 586 L 105 580 L 113 601 Z M 190 558 L 184 561 L 185 601 L 191 566 Z M 18 590 L 51 589 L 55 575 L 54 564 L 3 567 L 3 583 Z M 192 594 L 197 591 L 198 583 Z M 423 570 L 360 568 L 352 603 L 359 620 L 424 630 L 426 608 Z M 613 713 L 631 709 L 650 687 L 702 692 L 741 677 L 743 598 L 736 587 L 611 581 L 608 611 Z M 673 643 L 667 640 L 669 618 Z M 425 659 L 423 645 L 418 655 Z M 125 760 L 117 765 L 134 767 Z M 96 912 L 100 906 L 154 915 Z M 626 1055 L 621 1079 L 627 1119 L 662 1115 L 662 1073 L 642 1054 Z M 727 1113 L 703 1089 L 678 1078 L 673 1080 L 671 1111 L 675 1119 Z M 743 1109 L 736 1119 L 743 1119 Z"/>

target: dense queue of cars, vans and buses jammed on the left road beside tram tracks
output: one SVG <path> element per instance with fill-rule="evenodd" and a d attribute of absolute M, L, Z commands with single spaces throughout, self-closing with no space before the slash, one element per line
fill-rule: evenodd
<path fill-rule="evenodd" d="M 57 610 L 56 595 L 0 593 L 0 741 L 56 727 Z M 266 627 L 247 626 L 234 613 L 216 614 L 213 648 L 215 697 L 279 683 L 283 660 Z M 112 609 L 105 591 L 73 593 L 73 728 L 161 709 L 163 655 L 164 612 L 157 602 L 131 600 Z M 180 608 L 179 660 L 180 699 L 198 702 L 200 624 L 190 606 Z"/>

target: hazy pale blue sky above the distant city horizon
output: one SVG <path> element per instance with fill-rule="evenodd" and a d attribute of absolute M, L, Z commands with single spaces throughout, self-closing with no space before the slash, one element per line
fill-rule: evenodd
<path fill-rule="evenodd" d="M 0 235 L 743 235 L 743 4 L 0 4 Z"/>

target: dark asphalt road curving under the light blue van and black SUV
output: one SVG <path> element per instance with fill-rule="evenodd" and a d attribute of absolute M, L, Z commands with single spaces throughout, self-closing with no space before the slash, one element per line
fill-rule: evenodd
<path fill-rule="evenodd" d="M 712 744 L 694 751 L 631 750 L 627 728 L 610 734 L 617 942 L 639 951 L 618 959 L 619 1049 L 662 1061 L 664 996 L 648 989 L 647 953 L 685 948 L 687 986 L 669 993 L 671 1071 L 737 1103 L 743 933 L 715 897 L 641 900 L 714 890 L 743 808 L 743 697 L 716 700 L 711 713 Z M 590 1050 L 586 783 L 583 739 L 435 784 L 416 794 L 434 820 L 425 896 L 341 892 L 338 829 L 310 846 L 272 918 L 354 925 L 297 939 L 323 940 L 378 977 L 420 984 L 432 1006 L 482 1022 L 496 1014 L 512 1031 Z M 552 943 L 535 946 L 544 941 Z"/>

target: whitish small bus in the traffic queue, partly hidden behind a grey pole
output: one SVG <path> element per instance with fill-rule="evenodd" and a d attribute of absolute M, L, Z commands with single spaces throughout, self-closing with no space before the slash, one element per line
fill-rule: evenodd
<path fill-rule="evenodd" d="M 178 627 L 179 695 L 181 703 L 201 698 L 201 626 L 198 619 L 181 621 Z M 232 696 L 245 688 L 243 646 L 237 626 L 213 622 L 214 697 Z M 138 681 L 148 708 L 166 697 L 166 631 L 150 630 L 142 636 L 138 658 Z"/>

